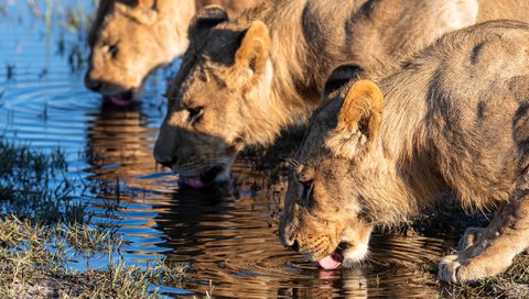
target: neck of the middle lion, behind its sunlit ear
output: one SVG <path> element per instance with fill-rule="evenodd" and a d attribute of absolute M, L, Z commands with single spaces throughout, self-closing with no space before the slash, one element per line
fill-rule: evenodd
<path fill-rule="evenodd" d="M 336 66 L 350 59 L 343 46 L 345 33 L 337 29 L 366 1 L 270 1 L 237 20 L 240 26 L 262 20 L 270 31 L 273 79 L 268 87 L 270 92 L 259 98 L 260 106 L 256 108 L 267 117 L 268 128 L 298 124 L 320 106 L 327 77 Z M 327 19 L 333 21 L 321 22 Z M 280 130 L 273 132 L 278 134 Z M 273 141 L 259 140 L 258 143 Z"/>

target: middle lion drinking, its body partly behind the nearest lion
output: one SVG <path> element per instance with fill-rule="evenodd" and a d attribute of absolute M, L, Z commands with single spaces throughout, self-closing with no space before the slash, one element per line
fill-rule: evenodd
<path fill-rule="evenodd" d="M 154 156 L 187 185 L 225 180 L 241 148 L 268 145 L 312 113 L 334 67 L 350 62 L 378 77 L 393 57 L 487 19 L 482 11 L 526 18 L 525 8 L 529 1 L 276 0 L 231 22 L 209 10 L 190 27 Z"/>

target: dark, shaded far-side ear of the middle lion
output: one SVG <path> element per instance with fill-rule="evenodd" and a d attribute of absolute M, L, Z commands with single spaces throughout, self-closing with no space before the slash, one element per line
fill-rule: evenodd
<path fill-rule="evenodd" d="M 207 5 L 197 11 L 191 21 L 188 35 L 192 43 L 204 41 L 207 33 L 216 25 L 228 21 L 228 14 L 219 5 Z"/>

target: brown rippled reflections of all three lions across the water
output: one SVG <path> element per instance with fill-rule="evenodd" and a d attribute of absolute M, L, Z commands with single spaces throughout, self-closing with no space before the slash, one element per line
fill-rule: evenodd
<path fill-rule="evenodd" d="M 93 178 L 120 180 L 116 215 L 131 242 L 129 258 L 168 256 L 192 265 L 192 279 L 182 287 L 204 294 L 212 280 L 218 297 L 438 295 L 433 276 L 421 265 L 424 258 L 439 258 L 443 241 L 374 235 L 364 265 L 320 270 L 278 240 L 284 177 L 269 179 L 256 170 L 260 157 L 247 155 L 236 162 L 231 192 L 179 189 L 175 177 L 152 160 L 153 129 L 145 118 L 140 108 L 102 109 L 87 131 Z M 97 198 L 115 200 L 116 193 Z"/>

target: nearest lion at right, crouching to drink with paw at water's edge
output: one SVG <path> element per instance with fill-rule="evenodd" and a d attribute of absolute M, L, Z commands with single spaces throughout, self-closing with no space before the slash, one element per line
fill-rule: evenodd
<path fill-rule="evenodd" d="M 283 245 L 324 268 L 352 266 L 374 226 L 406 221 L 451 192 L 466 209 L 498 209 L 442 258 L 439 277 L 505 270 L 529 247 L 529 25 L 453 32 L 378 86 L 352 68 L 353 79 L 334 89 L 347 69 L 331 77 L 296 154 Z"/>

